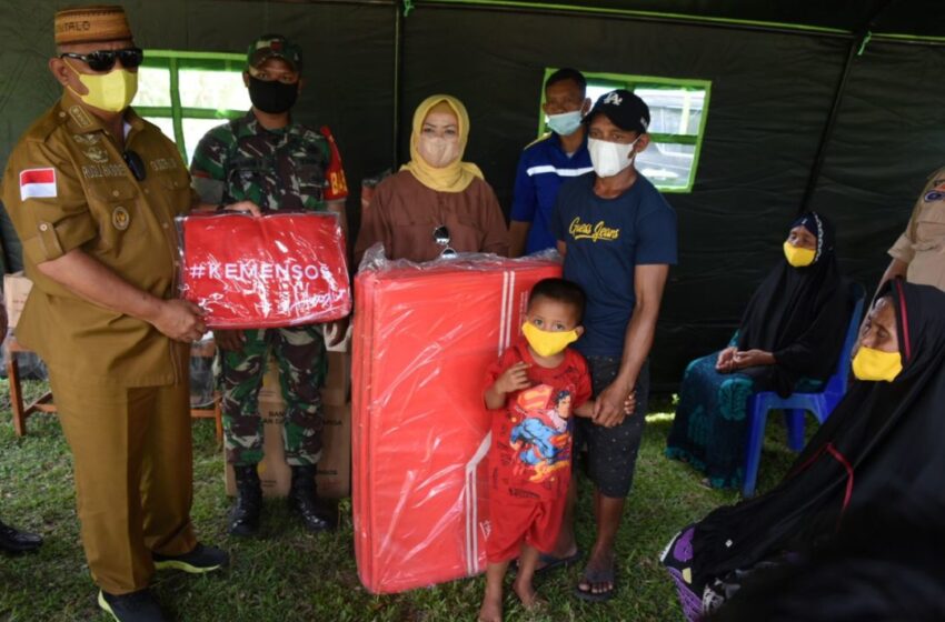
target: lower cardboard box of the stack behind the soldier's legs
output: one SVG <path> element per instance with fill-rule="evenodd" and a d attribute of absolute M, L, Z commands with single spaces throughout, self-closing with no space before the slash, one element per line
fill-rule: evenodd
<path fill-rule="evenodd" d="M 271 382 L 270 374 L 267 380 Z M 265 458 L 259 463 L 259 479 L 265 496 L 286 496 L 292 480 L 292 472 L 286 464 L 282 448 L 282 419 L 285 404 L 278 400 L 260 400 L 259 412 L 262 415 Z M 227 494 L 236 494 L 233 470 L 226 465 Z M 351 493 L 351 405 L 325 407 L 325 429 L 322 431 L 321 460 L 316 470 L 316 484 L 319 496 L 341 499 Z"/>

